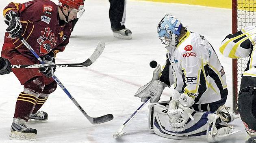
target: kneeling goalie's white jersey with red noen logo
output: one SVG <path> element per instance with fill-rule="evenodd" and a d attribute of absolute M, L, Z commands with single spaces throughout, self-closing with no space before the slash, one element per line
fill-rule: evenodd
<path fill-rule="evenodd" d="M 195 103 L 212 103 L 228 95 L 224 69 L 204 36 L 187 31 L 167 58 L 159 79 L 194 97 Z"/>

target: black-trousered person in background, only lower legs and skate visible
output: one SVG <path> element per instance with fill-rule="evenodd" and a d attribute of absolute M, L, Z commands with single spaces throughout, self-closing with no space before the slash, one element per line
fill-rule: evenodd
<path fill-rule="evenodd" d="M 126 0 L 108 0 L 111 30 L 116 38 L 132 39 L 132 32 L 124 25 L 126 21 Z M 74 19 L 73 27 L 78 19 Z"/>

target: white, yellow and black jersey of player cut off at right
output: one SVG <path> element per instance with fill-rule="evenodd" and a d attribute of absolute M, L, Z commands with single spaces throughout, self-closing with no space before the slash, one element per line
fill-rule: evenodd
<path fill-rule="evenodd" d="M 249 57 L 242 75 L 241 89 L 256 86 L 256 26 L 247 26 L 236 34 L 230 34 L 221 43 L 220 52 L 233 59 Z"/>

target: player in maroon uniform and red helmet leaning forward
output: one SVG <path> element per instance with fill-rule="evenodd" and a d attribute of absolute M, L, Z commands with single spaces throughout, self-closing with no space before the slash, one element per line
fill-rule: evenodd
<path fill-rule="evenodd" d="M 8 25 L 1 56 L 15 64 L 39 64 L 37 58 L 22 44 L 21 35 L 45 63 L 55 63 L 55 56 L 69 42 L 72 20 L 84 12 L 83 0 L 33 0 L 23 4 L 11 2 L 4 8 Z M 55 69 L 12 69 L 24 86 L 16 101 L 11 139 L 34 140 L 37 130 L 26 125 L 29 119 L 45 121 L 48 115 L 38 111 L 54 92 L 57 83 L 51 78 Z"/>

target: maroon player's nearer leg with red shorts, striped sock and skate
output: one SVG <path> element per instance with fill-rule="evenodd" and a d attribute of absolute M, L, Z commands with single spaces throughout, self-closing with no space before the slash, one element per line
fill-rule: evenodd
<path fill-rule="evenodd" d="M 23 55 L 16 55 L 10 62 L 17 64 L 35 64 Z M 37 130 L 26 125 L 28 116 L 32 113 L 37 97 L 42 92 L 45 82 L 38 69 L 13 69 L 13 73 L 24 85 L 24 91 L 20 93 L 15 105 L 15 113 L 11 126 L 11 139 L 35 139 Z"/>

